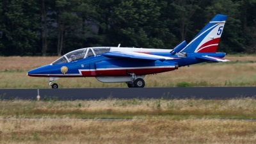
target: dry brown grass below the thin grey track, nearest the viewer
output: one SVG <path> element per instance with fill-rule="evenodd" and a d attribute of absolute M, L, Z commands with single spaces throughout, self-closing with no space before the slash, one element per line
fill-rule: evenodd
<path fill-rule="evenodd" d="M 255 143 L 256 122 L 1 119 L 0 143 Z"/>

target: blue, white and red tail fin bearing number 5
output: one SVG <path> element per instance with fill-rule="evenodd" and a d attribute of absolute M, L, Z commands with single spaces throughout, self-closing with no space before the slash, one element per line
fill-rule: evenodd
<path fill-rule="evenodd" d="M 227 15 L 217 14 L 180 52 L 216 52 Z"/>

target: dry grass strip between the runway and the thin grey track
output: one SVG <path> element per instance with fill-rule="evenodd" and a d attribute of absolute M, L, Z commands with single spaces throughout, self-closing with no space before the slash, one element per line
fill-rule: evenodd
<path fill-rule="evenodd" d="M 188 118 L 256 119 L 255 99 L 1 100 L 6 118 Z"/>

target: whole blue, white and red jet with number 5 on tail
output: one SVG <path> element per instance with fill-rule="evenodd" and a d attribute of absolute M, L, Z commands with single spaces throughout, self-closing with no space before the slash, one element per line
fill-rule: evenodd
<path fill-rule="evenodd" d="M 49 77 L 49 85 L 59 77 L 95 77 L 103 83 L 127 83 L 129 88 L 143 88 L 143 78 L 177 70 L 202 62 L 223 62 L 224 52 L 216 52 L 226 15 L 215 17 L 191 40 L 174 49 L 139 49 L 126 47 L 88 47 L 68 52 L 49 65 L 28 72 L 31 77 Z"/>

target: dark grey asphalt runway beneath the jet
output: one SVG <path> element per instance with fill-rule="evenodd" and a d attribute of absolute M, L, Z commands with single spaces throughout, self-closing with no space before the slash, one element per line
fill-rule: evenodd
<path fill-rule="evenodd" d="M 232 99 L 256 97 L 256 87 L 0 89 L 0 99 Z"/>

